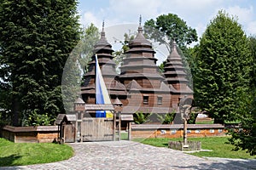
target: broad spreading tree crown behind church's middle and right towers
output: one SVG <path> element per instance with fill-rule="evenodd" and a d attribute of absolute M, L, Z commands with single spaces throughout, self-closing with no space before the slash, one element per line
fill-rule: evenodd
<path fill-rule="evenodd" d="M 155 42 L 166 44 L 169 52 L 172 50 L 173 39 L 182 50 L 186 48 L 186 45 L 197 42 L 195 29 L 187 26 L 177 14 L 162 14 L 156 20 L 147 20 L 144 27 L 147 37 Z"/>

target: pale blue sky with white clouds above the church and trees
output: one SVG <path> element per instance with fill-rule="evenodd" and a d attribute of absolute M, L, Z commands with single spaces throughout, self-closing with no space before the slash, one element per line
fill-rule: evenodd
<path fill-rule="evenodd" d="M 238 16 L 238 22 L 248 35 L 256 34 L 256 1 L 254 0 L 79 0 L 81 23 L 97 27 L 120 24 L 137 24 L 142 14 L 143 22 L 160 14 L 177 14 L 189 26 L 195 28 L 199 37 L 207 24 L 224 9 Z"/>

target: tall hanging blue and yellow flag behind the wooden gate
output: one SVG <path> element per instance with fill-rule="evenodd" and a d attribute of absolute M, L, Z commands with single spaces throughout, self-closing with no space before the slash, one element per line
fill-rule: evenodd
<path fill-rule="evenodd" d="M 106 84 L 102 77 L 102 71 L 98 63 L 97 55 L 96 60 L 96 104 L 111 104 L 108 95 Z M 96 111 L 96 117 L 113 117 L 111 111 Z"/>

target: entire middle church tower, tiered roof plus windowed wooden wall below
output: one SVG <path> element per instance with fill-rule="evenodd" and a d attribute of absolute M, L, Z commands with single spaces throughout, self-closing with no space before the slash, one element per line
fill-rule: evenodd
<path fill-rule="evenodd" d="M 169 112 L 170 88 L 156 65 L 157 59 L 154 58 L 155 52 L 151 42 L 143 36 L 141 23 L 138 26 L 137 37 L 129 42 L 128 47 L 119 76 L 129 95 L 128 105 L 125 105 L 123 112 Z"/>

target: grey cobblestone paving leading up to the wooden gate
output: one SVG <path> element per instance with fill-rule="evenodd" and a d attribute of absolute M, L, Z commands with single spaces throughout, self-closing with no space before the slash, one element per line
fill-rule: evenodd
<path fill-rule="evenodd" d="M 69 160 L 0 169 L 256 169 L 256 160 L 200 158 L 131 141 L 70 145 L 75 156 Z"/>

